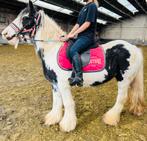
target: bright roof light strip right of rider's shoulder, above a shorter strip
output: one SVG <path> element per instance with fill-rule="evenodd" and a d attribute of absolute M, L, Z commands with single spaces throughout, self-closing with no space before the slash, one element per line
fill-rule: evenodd
<path fill-rule="evenodd" d="M 118 15 L 118 14 L 116 14 L 116 13 L 114 13 L 114 12 L 112 12 L 112 11 L 106 9 L 105 7 L 102 7 L 102 6 L 98 8 L 98 11 L 101 12 L 101 13 L 103 13 L 103 14 L 109 15 L 109 16 L 117 19 L 117 20 L 119 18 L 121 18 L 120 15 Z"/>

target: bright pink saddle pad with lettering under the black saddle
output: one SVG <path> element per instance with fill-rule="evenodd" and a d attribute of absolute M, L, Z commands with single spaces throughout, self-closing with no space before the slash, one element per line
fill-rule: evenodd
<path fill-rule="evenodd" d="M 64 70 L 71 70 L 72 64 L 66 55 L 68 48 L 68 42 L 65 42 L 58 52 L 58 65 Z M 97 48 L 90 49 L 90 61 L 86 66 L 83 66 L 83 72 L 95 72 L 102 71 L 105 68 L 105 54 L 103 48 L 98 46 Z"/>

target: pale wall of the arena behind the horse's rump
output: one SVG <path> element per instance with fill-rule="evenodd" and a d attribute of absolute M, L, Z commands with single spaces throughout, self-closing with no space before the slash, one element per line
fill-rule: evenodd
<path fill-rule="evenodd" d="M 123 39 L 136 44 L 147 43 L 147 16 L 140 15 L 106 27 L 101 38 Z"/>

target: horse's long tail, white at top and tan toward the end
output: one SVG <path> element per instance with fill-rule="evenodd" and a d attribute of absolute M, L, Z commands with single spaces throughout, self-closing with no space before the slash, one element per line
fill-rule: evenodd
<path fill-rule="evenodd" d="M 138 70 L 135 78 L 130 85 L 129 103 L 130 112 L 135 115 L 142 115 L 144 111 L 144 82 L 143 82 L 143 55 L 139 49 L 137 52 Z"/>

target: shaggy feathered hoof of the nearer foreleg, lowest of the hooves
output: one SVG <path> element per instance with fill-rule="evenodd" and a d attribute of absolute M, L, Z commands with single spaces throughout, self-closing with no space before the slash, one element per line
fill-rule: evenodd
<path fill-rule="evenodd" d="M 72 119 L 63 118 L 60 122 L 60 130 L 63 132 L 70 132 L 76 128 L 76 117 Z"/>

